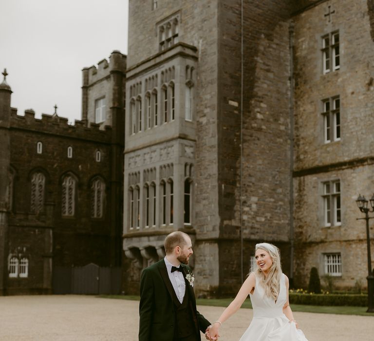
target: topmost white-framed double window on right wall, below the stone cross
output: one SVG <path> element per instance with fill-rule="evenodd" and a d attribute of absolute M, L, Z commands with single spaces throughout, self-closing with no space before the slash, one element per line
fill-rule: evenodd
<path fill-rule="evenodd" d="M 340 68 L 339 32 L 322 37 L 322 62 L 324 74 Z"/>

